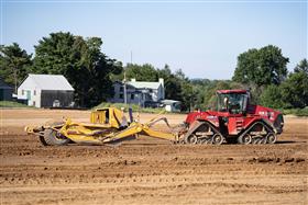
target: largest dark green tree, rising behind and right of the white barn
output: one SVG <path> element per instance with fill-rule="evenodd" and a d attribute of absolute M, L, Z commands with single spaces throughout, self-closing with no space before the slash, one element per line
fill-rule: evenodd
<path fill-rule="evenodd" d="M 33 72 L 64 75 L 75 89 L 75 101 L 94 106 L 113 94 L 111 73 L 121 64 L 101 53 L 99 37 L 84 38 L 70 33 L 52 33 L 35 46 Z"/>

